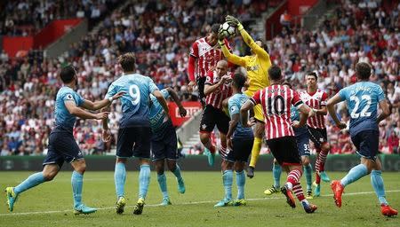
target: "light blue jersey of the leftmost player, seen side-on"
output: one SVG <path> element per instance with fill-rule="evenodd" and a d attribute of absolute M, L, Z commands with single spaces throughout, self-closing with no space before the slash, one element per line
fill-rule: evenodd
<path fill-rule="evenodd" d="M 53 130 L 67 129 L 72 132 L 74 128 L 76 116 L 69 114 L 65 102 L 75 102 L 76 106 L 81 106 L 84 103 L 84 98 L 69 87 L 61 87 L 57 92 L 55 101 L 55 128 Z"/>

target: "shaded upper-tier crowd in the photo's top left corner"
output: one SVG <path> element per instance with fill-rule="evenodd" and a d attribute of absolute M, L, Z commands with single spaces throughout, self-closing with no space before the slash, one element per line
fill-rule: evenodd
<path fill-rule="evenodd" d="M 0 3 L 0 35 L 35 35 L 52 20 L 86 18 L 95 23 L 121 0 L 17 0 Z"/>

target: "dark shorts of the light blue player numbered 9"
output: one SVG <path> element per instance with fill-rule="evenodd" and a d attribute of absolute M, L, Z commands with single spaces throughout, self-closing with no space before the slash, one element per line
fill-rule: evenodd
<path fill-rule="evenodd" d="M 118 130 L 116 156 L 150 159 L 150 127 L 132 127 Z"/>

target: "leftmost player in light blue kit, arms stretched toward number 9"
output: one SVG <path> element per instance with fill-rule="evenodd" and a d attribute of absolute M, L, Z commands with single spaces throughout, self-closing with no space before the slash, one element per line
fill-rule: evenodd
<path fill-rule="evenodd" d="M 74 128 L 76 117 L 81 119 L 101 120 L 108 116 L 108 113 L 106 112 L 92 114 L 84 111 L 82 108 L 92 111 L 99 110 L 104 106 L 108 106 L 116 98 L 120 98 L 124 93 L 118 92 L 108 99 L 92 102 L 85 100 L 76 93 L 77 77 L 74 67 L 63 67 L 60 72 L 60 78 L 64 83 L 64 86 L 58 91 L 55 101 L 55 125 L 50 133 L 48 152 L 43 162 L 43 171 L 29 176 L 16 187 L 7 187 L 5 189 L 7 205 L 10 211 L 13 210 L 14 203 L 20 193 L 25 192 L 38 184 L 51 181 L 54 176 L 59 173 L 64 161 L 71 163 L 72 168 L 74 168 L 74 172 L 71 176 L 74 213 L 76 215 L 91 214 L 96 211 L 96 208 L 87 207 L 82 202 L 82 189 L 86 162 L 84 161 L 84 156 L 82 155 L 79 146 L 76 145 L 72 129 Z"/>

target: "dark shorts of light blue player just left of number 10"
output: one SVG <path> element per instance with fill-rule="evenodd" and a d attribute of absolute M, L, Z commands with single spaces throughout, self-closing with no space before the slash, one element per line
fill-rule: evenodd
<path fill-rule="evenodd" d="M 233 151 L 228 150 L 226 156 L 222 157 L 221 155 L 221 158 L 230 162 L 235 162 L 236 160 L 246 162 L 249 159 L 249 155 L 252 153 L 253 142 L 254 137 L 233 138 Z"/>

